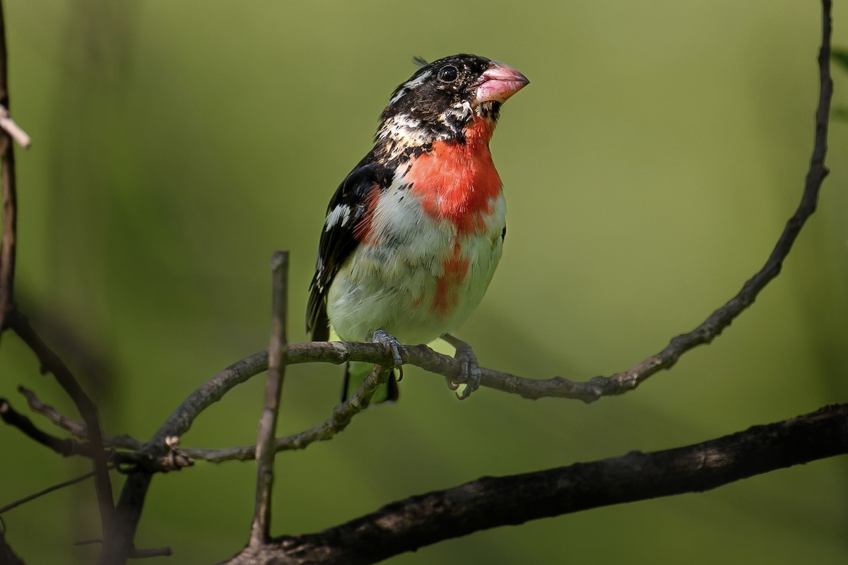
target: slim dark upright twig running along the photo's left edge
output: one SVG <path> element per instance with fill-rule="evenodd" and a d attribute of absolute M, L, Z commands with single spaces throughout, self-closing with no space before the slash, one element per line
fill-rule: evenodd
<path fill-rule="evenodd" d="M 8 64 L 6 20 L 0 3 L 0 105 L 8 109 Z M 3 182 L 3 243 L 0 244 L 0 333 L 6 328 L 6 315 L 14 296 L 14 255 L 17 244 L 18 197 L 14 183 L 14 143 L 6 130 L 0 130 L 0 178 Z"/>

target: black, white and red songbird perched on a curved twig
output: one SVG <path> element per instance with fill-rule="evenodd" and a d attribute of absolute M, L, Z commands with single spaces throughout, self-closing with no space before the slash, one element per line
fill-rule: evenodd
<path fill-rule="evenodd" d="M 500 258 L 506 207 L 488 141 L 500 105 L 529 81 L 476 55 L 421 64 L 327 207 L 306 330 L 326 341 L 332 324 L 342 340 L 379 341 L 398 367 L 400 342 L 441 336 L 463 361 L 466 397 L 479 385 L 477 359 L 446 332 L 483 299 Z"/>

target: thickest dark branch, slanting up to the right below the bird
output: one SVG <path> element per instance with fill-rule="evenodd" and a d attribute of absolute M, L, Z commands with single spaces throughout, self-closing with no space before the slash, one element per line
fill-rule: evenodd
<path fill-rule="evenodd" d="M 711 490 L 845 453 L 848 405 L 833 405 L 693 446 L 484 477 L 411 496 L 322 532 L 276 538 L 264 551 L 246 548 L 227 563 L 374 563 L 483 529 Z"/>

